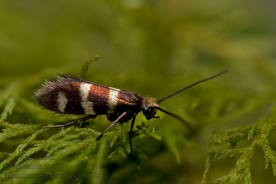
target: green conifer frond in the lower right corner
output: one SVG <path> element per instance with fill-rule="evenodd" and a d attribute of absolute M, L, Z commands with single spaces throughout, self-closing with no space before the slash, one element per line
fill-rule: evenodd
<path fill-rule="evenodd" d="M 206 183 L 207 175 L 209 173 L 210 162 L 217 158 L 222 159 L 229 156 L 234 159 L 235 156 L 240 156 L 236 161 L 236 167 L 233 168 L 227 175 L 218 178 L 213 181 L 213 184 L 223 184 L 228 181 L 230 183 L 240 183 L 244 180 L 244 183 L 252 183 L 251 181 L 251 158 L 254 156 L 255 150 L 262 148 L 265 155 L 265 169 L 268 167 L 268 163 L 271 162 L 273 175 L 276 176 L 276 152 L 271 150 L 269 146 L 269 136 L 276 129 L 276 124 L 263 125 L 259 128 L 253 126 L 243 126 L 240 128 L 233 128 L 225 131 L 215 132 L 209 145 L 214 145 L 215 141 L 218 141 L 221 145 L 230 144 L 231 148 L 234 148 L 237 143 L 244 139 L 254 139 L 251 145 L 245 148 L 211 151 L 209 157 L 205 160 L 205 172 L 201 184 Z M 231 136 L 234 133 L 240 132 L 242 135 Z M 231 136 L 226 139 L 222 139 L 223 136 Z M 253 136 L 255 135 L 255 138 Z"/>

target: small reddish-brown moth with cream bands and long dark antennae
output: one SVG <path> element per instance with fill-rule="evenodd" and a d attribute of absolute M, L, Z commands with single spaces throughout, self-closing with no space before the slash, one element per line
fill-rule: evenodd
<path fill-rule="evenodd" d="M 105 132 L 116 125 L 119 121 L 126 122 L 132 118 L 129 132 L 129 143 L 131 151 L 133 151 L 131 143 L 132 129 L 135 117 L 140 111 L 143 112 L 147 120 L 150 120 L 151 118 L 159 118 L 156 117 L 155 114 L 157 113 L 157 110 L 160 110 L 177 118 L 193 132 L 193 129 L 183 118 L 161 109 L 159 107 L 160 102 L 200 82 L 213 79 L 227 71 L 228 70 L 225 70 L 212 77 L 197 81 L 157 102 L 151 97 L 143 97 L 131 91 L 103 86 L 69 74 L 59 74 L 59 76 L 50 82 L 45 80 L 40 89 L 36 90 L 34 98 L 43 109 L 55 111 L 55 113 L 61 115 L 88 115 L 64 125 L 44 126 L 42 128 L 66 127 L 88 119 L 93 119 L 98 115 L 106 115 L 107 119 L 113 121 L 113 123 L 102 132 L 96 140 L 99 140 Z"/>

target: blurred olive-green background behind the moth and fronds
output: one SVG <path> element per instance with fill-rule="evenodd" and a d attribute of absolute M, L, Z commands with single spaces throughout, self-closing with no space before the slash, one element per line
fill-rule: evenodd
<path fill-rule="evenodd" d="M 10 94 L 33 104 L 33 111 L 16 105 L 6 121 L 70 121 L 73 117 L 40 112 L 32 96 L 56 72 L 80 76 L 84 62 L 96 54 L 101 58 L 90 65 L 86 80 L 157 100 L 229 69 L 161 103 L 161 108 L 201 127 L 205 145 L 178 141 L 174 152 L 162 140 L 137 137 L 134 146 L 148 155 L 140 170 L 131 158 L 120 156 L 106 159 L 103 166 L 109 172 L 107 183 L 200 183 L 208 151 L 229 148 L 208 147 L 212 131 L 254 125 L 275 106 L 275 9 L 274 1 L 257 0 L 0 1 L 0 90 L 18 85 Z M 0 96 L 1 111 L 5 101 Z M 162 119 L 148 121 L 157 134 L 187 132 L 172 117 L 157 115 Z M 141 114 L 136 125 L 142 121 Z M 97 131 L 109 126 L 104 116 L 94 122 Z M 129 125 L 122 131 L 129 131 Z M 274 132 L 273 150 L 275 138 Z M 17 146 L 12 141 L 1 144 L 2 152 Z M 209 183 L 235 163 L 230 158 L 211 162 Z M 276 182 L 271 166 L 264 170 L 264 165 L 263 152 L 256 151 L 253 183 Z"/>

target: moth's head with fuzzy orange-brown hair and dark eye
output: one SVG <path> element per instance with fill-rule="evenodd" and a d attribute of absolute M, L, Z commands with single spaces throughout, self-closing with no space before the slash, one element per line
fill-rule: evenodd
<path fill-rule="evenodd" d="M 156 107 L 159 107 L 159 104 L 155 102 L 155 98 L 144 98 L 141 105 L 141 110 L 143 111 L 143 114 L 147 120 L 150 120 L 151 118 L 155 117 L 155 114 L 157 113 Z"/>

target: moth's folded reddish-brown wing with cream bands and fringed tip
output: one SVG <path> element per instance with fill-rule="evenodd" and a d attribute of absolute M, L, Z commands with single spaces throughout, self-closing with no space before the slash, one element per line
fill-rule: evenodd
<path fill-rule="evenodd" d="M 117 107 L 131 109 L 137 104 L 137 98 L 141 97 L 130 91 L 99 85 L 69 74 L 59 74 L 50 82 L 46 80 L 35 92 L 35 99 L 43 109 L 79 115 L 108 114 Z"/>

